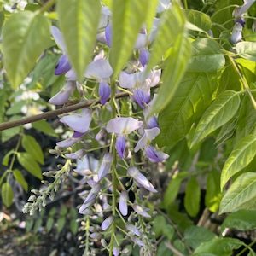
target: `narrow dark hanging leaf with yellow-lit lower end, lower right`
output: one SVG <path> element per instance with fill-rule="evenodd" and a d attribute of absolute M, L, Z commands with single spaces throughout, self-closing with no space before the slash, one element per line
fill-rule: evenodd
<path fill-rule="evenodd" d="M 209 172 L 207 176 L 207 193 L 205 197 L 206 207 L 212 212 L 217 212 L 221 197 L 220 173 L 218 171 Z"/>

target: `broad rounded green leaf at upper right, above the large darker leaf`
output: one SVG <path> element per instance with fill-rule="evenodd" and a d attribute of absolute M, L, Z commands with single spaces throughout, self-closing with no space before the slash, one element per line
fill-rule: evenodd
<path fill-rule="evenodd" d="M 225 65 L 224 55 L 220 45 L 208 38 L 200 38 L 192 43 L 192 55 L 190 57 L 188 71 L 213 72 Z"/>

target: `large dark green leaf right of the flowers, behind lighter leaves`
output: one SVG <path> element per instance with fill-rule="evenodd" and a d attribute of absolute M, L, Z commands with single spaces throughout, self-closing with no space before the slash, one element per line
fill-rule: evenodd
<path fill-rule="evenodd" d="M 195 119 L 199 118 L 212 102 L 217 89 L 216 73 L 186 73 L 173 96 L 172 102 L 160 112 L 161 146 L 172 147 L 189 132 Z"/>

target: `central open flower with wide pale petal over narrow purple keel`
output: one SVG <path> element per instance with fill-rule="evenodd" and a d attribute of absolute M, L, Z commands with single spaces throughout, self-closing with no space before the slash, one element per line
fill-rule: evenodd
<path fill-rule="evenodd" d="M 116 134 L 117 140 L 115 143 L 115 147 L 119 154 L 120 158 L 125 157 L 125 144 L 126 144 L 126 136 L 130 134 L 132 131 L 136 131 L 143 125 L 142 121 L 138 121 L 134 118 L 123 118 L 118 117 L 111 119 L 107 124 L 107 131 L 109 133 Z"/>

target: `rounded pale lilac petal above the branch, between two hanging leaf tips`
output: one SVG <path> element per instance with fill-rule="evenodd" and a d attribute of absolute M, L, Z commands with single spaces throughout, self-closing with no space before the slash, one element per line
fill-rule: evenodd
<path fill-rule="evenodd" d="M 87 79 L 96 79 L 98 81 L 109 79 L 113 69 L 105 59 L 90 62 L 84 76 Z"/>

